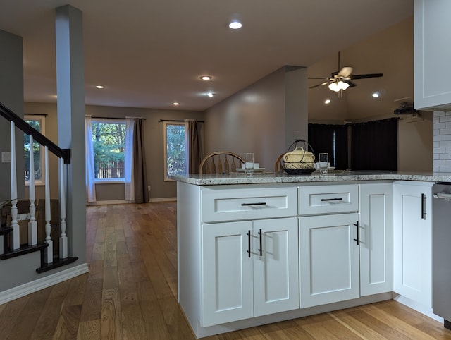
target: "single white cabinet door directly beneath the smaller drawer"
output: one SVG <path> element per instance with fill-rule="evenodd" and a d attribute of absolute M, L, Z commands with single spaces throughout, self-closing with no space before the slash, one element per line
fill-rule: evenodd
<path fill-rule="evenodd" d="M 300 217 L 301 308 L 359 297 L 358 214 Z"/>

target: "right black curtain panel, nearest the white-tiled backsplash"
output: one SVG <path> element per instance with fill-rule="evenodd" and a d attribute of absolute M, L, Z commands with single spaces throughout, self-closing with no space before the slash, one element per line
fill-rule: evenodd
<path fill-rule="evenodd" d="M 397 121 L 352 124 L 352 170 L 397 170 Z"/>

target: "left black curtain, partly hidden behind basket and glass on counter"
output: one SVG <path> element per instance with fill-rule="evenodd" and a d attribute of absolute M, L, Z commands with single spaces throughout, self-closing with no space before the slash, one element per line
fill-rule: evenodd
<path fill-rule="evenodd" d="M 336 169 L 347 169 L 347 126 L 309 124 L 309 144 L 315 151 L 329 154 L 329 162 Z"/>

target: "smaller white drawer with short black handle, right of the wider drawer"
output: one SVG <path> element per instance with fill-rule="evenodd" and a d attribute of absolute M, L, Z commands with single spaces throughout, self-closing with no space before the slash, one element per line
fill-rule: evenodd
<path fill-rule="evenodd" d="M 359 186 L 299 187 L 299 214 L 333 214 L 359 210 Z"/>

